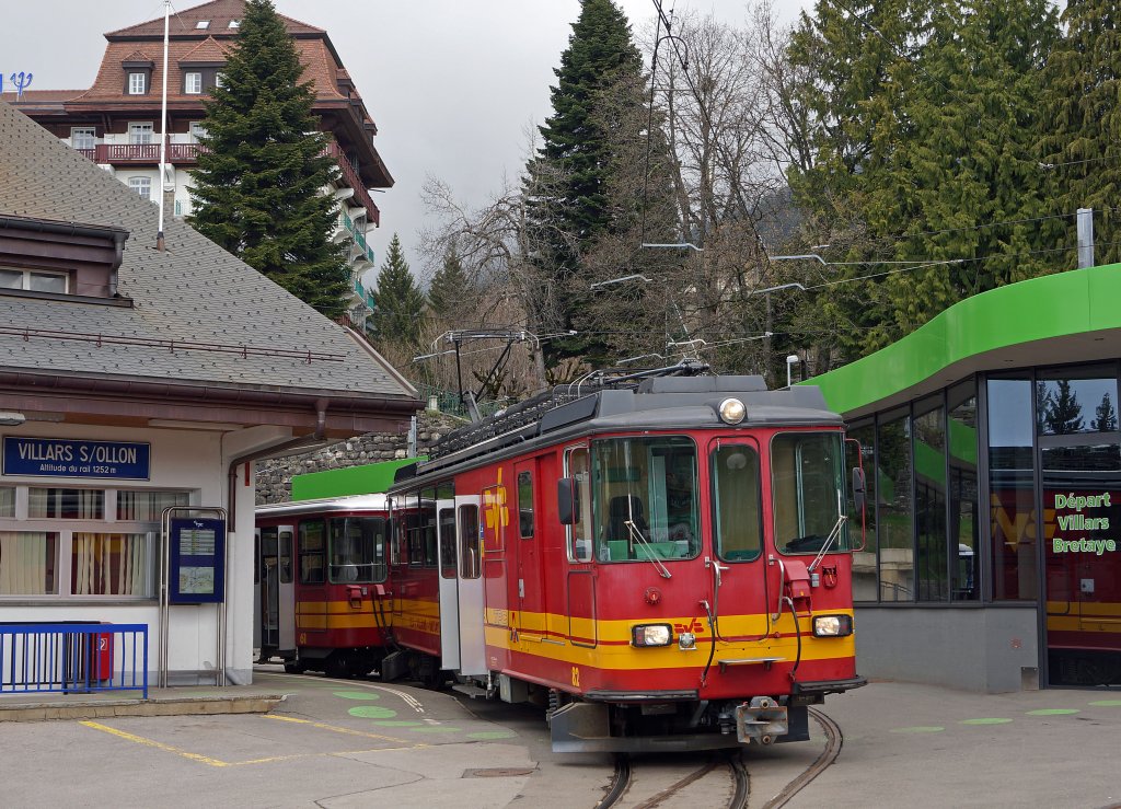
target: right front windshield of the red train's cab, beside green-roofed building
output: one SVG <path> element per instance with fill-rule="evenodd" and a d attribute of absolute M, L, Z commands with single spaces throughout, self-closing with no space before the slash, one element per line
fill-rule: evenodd
<path fill-rule="evenodd" d="M 781 433 L 771 440 L 775 545 L 784 554 L 849 549 L 842 520 L 844 452 L 839 433 Z"/>

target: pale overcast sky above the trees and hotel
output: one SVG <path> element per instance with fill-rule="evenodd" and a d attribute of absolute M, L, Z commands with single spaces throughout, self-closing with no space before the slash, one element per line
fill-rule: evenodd
<path fill-rule="evenodd" d="M 636 34 L 651 0 L 615 0 Z M 371 234 L 380 268 L 398 232 L 417 277 L 426 224 L 419 192 L 428 175 L 483 204 L 524 162 L 526 129 L 550 113 L 553 68 L 568 43 L 578 0 L 274 0 L 288 17 L 326 29 L 378 124 L 374 143 L 396 184 L 376 194 L 381 227 Z M 172 9 L 198 6 L 173 0 Z M 784 22 L 802 0 L 775 0 Z M 663 0 L 741 22 L 748 0 Z M 34 90 L 86 89 L 105 31 L 161 17 L 161 0 L 0 0 L 0 74 L 30 72 Z M 374 275 L 376 275 L 374 270 Z M 374 277 L 367 279 L 372 286 Z"/>

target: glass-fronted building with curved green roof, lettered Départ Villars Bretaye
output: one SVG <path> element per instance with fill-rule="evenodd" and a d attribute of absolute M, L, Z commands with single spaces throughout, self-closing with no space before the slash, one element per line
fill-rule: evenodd
<path fill-rule="evenodd" d="M 862 446 L 862 675 L 1121 684 L 1119 272 L 974 296 L 806 382 Z"/>

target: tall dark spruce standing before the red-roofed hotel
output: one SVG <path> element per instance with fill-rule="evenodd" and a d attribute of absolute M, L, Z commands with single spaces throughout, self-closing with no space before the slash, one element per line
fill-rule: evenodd
<path fill-rule="evenodd" d="M 327 317 L 345 311 L 349 270 L 323 193 L 337 167 L 315 94 L 270 0 L 249 0 L 223 83 L 205 103 L 189 222 Z"/>

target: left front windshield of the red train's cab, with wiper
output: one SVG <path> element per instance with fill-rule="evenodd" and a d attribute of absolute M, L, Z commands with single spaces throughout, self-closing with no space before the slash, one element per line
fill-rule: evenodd
<path fill-rule="evenodd" d="M 609 438 L 593 441 L 591 454 L 596 559 L 689 559 L 700 552 L 692 439 Z"/>

